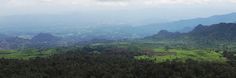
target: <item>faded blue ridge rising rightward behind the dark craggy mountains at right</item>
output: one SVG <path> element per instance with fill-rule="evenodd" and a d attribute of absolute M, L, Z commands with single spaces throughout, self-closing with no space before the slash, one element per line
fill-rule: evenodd
<path fill-rule="evenodd" d="M 141 38 L 146 36 L 151 36 L 156 34 L 160 30 L 168 30 L 171 32 L 189 32 L 193 30 L 197 25 L 211 25 L 217 23 L 234 23 L 236 21 L 236 13 L 225 14 L 225 15 L 215 15 L 206 18 L 195 18 L 187 19 L 181 21 L 174 21 L 169 23 L 159 23 L 159 24 L 149 24 L 142 26 L 111 26 L 96 28 L 93 31 L 100 31 L 104 33 L 111 33 L 113 36 L 119 34 L 119 36 L 125 36 L 125 38 Z M 107 32 L 110 31 L 110 32 Z M 116 32 L 116 33 L 114 33 Z M 119 34 L 117 34 L 119 33 Z M 98 34 L 98 33 L 96 33 Z"/>

